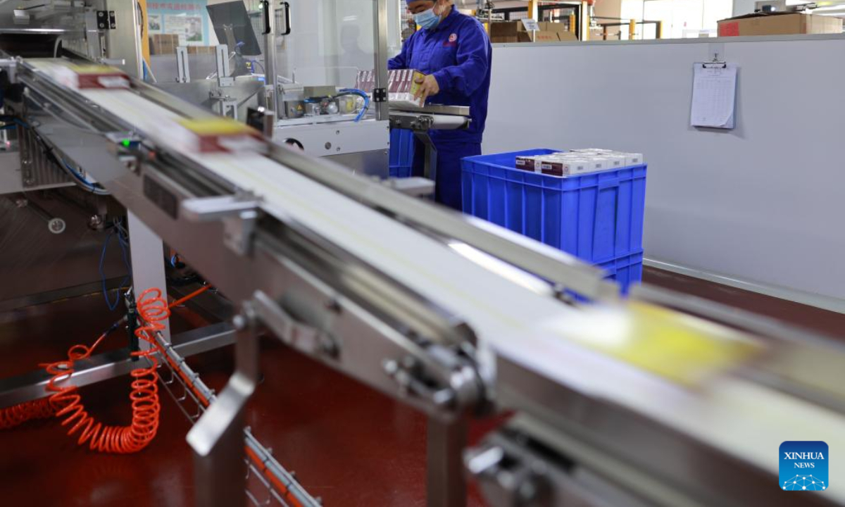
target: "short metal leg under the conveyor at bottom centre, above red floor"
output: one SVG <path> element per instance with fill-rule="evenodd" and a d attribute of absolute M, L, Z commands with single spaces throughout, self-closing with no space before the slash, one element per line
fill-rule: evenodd
<path fill-rule="evenodd" d="M 461 457 L 466 447 L 466 417 L 444 423 L 428 417 L 428 500 L 429 507 L 466 505 L 466 479 Z"/>

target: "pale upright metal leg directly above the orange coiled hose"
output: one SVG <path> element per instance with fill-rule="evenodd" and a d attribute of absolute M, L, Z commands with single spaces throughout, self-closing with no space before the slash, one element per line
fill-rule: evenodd
<path fill-rule="evenodd" d="M 162 295 L 167 290 L 167 282 L 164 273 L 164 244 L 161 237 L 146 226 L 131 211 L 128 212 L 129 227 L 129 252 L 132 254 L 132 286 L 135 297 L 151 287 L 161 289 Z M 161 330 L 166 341 L 170 339 L 170 322 L 163 321 L 165 328 Z M 142 341 L 141 348 L 150 344 Z"/>

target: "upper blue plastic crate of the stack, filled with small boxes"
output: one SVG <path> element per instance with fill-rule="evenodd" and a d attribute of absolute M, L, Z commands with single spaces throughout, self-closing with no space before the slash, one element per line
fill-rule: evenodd
<path fill-rule="evenodd" d="M 515 168 L 524 150 L 462 161 L 466 214 L 520 232 L 592 264 L 642 251 L 646 166 L 578 177 L 553 177 Z"/>

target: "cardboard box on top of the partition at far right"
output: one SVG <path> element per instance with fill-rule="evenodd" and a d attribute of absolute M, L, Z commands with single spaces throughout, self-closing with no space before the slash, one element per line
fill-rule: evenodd
<path fill-rule="evenodd" d="M 756 13 L 719 21 L 720 37 L 840 34 L 842 19 L 801 13 Z"/>

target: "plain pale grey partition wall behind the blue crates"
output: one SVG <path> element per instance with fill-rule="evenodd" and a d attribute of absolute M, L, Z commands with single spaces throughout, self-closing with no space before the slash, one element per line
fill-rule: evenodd
<path fill-rule="evenodd" d="M 739 65 L 738 123 L 690 127 L 692 66 Z M 497 45 L 486 153 L 649 161 L 646 257 L 845 311 L 845 38 Z"/>

